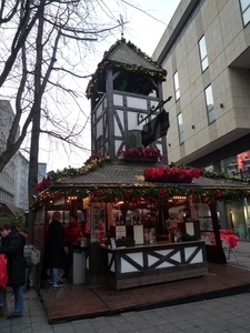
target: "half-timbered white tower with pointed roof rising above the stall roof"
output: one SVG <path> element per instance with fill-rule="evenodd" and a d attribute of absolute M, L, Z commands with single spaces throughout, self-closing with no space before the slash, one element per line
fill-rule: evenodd
<path fill-rule="evenodd" d="M 100 152 L 118 161 L 120 150 L 143 145 L 143 125 L 163 110 L 166 79 L 166 70 L 123 38 L 104 52 L 87 88 L 92 154 Z M 158 148 L 168 162 L 166 137 L 150 147 Z"/>

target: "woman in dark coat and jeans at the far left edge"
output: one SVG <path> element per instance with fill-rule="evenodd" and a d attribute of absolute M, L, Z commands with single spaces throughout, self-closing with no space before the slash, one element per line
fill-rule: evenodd
<path fill-rule="evenodd" d="M 23 256 L 24 239 L 11 224 L 3 224 L 0 229 L 0 253 L 7 255 L 8 286 L 13 289 L 14 310 L 10 317 L 22 316 L 23 295 L 22 285 L 26 282 L 26 260 Z"/>

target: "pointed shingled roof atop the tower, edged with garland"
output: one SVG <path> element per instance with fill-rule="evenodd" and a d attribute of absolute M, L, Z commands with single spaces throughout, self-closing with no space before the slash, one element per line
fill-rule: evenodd
<path fill-rule="evenodd" d="M 118 40 L 109 51 L 104 52 L 101 62 L 98 64 L 98 69 L 88 84 L 88 98 L 92 94 L 94 83 L 109 67 L 131 72 L 141 72 L 148 77 L 158 78 L 161 81 L 166 81 L 167 78 L 167 71 L 162 69 L 161 65 L 137 48 L 132 42 L 127 42 L 126 39 L 122 38 L 121 40 Z"/>

